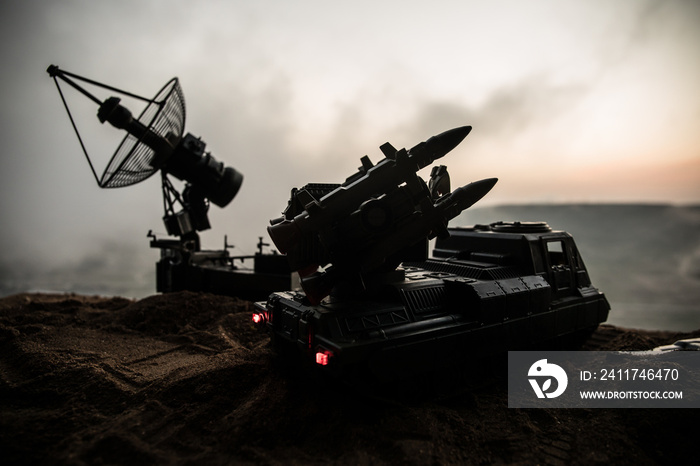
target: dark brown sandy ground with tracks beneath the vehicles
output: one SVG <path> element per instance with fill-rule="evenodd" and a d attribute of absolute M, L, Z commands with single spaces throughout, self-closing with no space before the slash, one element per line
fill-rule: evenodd
<path fill-rule="evenodd" d="M 252 305 L 0 299 L 2 464 L 671 464 L 698 458 L 694 410 L 509 409 L 503 377 L 420 395 L 288 370 Z M 700 335 L 601 326 L 584 349 Z"/>

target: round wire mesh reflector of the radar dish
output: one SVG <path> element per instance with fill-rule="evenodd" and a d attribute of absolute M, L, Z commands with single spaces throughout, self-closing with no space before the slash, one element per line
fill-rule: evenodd
<path fill-rule="evenodd" d="M 168 141 L 180 140 L 185 129 L 185 96 L 177 78 L 163 86 L 138 121 Z M 155 156 L 153 149 L 128 134 L 107 164 L 100 187 L 120 188 L 145 180 L 160 168 L 154 166 Z"/>

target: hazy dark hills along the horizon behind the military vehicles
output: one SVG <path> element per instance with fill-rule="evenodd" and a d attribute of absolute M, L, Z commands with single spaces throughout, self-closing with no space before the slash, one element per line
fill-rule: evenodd
<path fill-rule="evenodd" d="M 547 221 L 570 232 L 593 284 L 608 297 L 609 323 L 627 328 L 700 328 L 700 205 L 538 204 L 475 207 L 451 225 Z M 31 256 L 31 255 L 30 255 Z M 118 242 L 86 244 L 58 265 L 0 261 L 0 296 L 31 291 L 144 298 L 156 294 L 157 256 Z"/>

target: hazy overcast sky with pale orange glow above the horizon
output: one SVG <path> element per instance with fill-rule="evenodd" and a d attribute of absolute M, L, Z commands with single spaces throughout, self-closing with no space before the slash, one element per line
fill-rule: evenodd
<path fill-rule="evenodd" d="M 157 177 L 98 188 L 50 64 L 148 97 L 180 78 L 186 131 L 245 176 L 229 207 L 212 207 L 209 247 L 228 234 L 252 252 L 292 187 L 340 182 L 361 156 L 379 160 L 386 141 L 411 147 L 462 125 L 474 129 L 441 163 L 453 185 L 500 179 L 482 205 L 700 202 L 698 1 L 4 1 L 0 9 L 4 264 L 129 244 L 146 252 L 148 229 L 164 231 Z M 100 127 L 94 104 L 66 94 L 101 173 L 121 134 Z"/>

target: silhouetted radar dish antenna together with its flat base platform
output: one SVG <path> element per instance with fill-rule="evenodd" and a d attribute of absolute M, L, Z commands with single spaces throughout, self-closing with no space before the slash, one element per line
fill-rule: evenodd
<path fill-rule="evenodd" d="M 55 65 L 47 72 L 54 79 L 75 133 L 97 184 L 101 188 L 130 186 L 145 180 L 157 171 L 161 173 L 164 216 L 168 235 L 178 240 L 159 240 L 149 232 L 151 247 L 161 250 L 157 263 L 157 290 L 162 292 L 193 290 L 211 291 L 240 297 L 259 299 L 273 290 L 290 286 L 290 272 L 283 256 L 263 254 L 262 239 L 259 251 L 251 256 L 231 257 L 229 246 L 223 250 L 202 251 L 197 232 L 211 227 L 208 218 L 209 203 L 227 206 L 238 193 L 243 175 L 217 161 L 205 152 L 206 144 L 187 133 L 185 128 L 185 98 L 177 78 L 168 81 L 152 99 L 93 81 L 59 69 Z M 59 86 L 62 80 L 95 102 L 97 118 L 115 128 L 126 131 L 114 155 L 98 177 L 88 155 L 78 127 Z M 82 81 L 96 87 L 147 102 L 146 108 L 134 118 L 118 97 L 101 101 L 81 85 Z M 173 187 L 168 175 L 184 181 L 182 193 Z M 234 260 L 254 261 L 254 269 L 239 268 Z"/>

